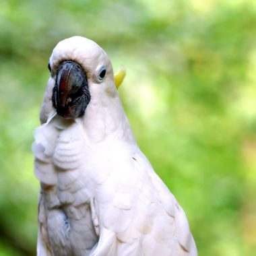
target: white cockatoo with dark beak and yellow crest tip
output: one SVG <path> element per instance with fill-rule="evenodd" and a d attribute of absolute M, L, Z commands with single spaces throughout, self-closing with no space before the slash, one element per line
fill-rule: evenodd
<path fill-rule="evenodd" d="M 106 53 L 57 44 L 36 129 L 38 256 L 195 256 L 183 209 L 141 153 Z"/>

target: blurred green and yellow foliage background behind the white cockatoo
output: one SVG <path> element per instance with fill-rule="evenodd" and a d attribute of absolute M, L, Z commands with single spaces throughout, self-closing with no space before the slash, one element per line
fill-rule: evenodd
<path fill-rule="evenodd" d="M 255 255 L 256 1 L 0 1 L 0 256 L 35 255 L 31 143 L 53 47 L 95 40 L 199 255 Z"/>

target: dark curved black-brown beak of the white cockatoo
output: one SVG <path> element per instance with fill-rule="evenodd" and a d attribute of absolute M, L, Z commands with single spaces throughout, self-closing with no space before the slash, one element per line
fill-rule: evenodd
<path fill-rule="evenodd" d="M 63 61 L 59 65 L 52 100 L 57 114 L 65 119 L 84 115 L 90 91 L 86 72 L 75 61 Z"/>

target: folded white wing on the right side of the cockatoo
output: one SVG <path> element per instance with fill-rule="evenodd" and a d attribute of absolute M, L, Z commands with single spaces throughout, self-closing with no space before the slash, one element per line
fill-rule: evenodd
<path fill-rule="evenodd" d="M 94 197 L 100 238 L 90 256 L 197 255 L 185 213 L 146 157 L 108 164 L 113 172 Z"/>

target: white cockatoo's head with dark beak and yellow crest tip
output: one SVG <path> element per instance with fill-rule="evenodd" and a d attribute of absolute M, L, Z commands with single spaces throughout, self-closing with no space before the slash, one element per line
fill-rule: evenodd
<path fill-rule="evenodd" d="M 125 72 L 113 77 L 108 55 L 92 40 L 73 36 L 55 46 L 49 61 L 51 100 L 65 119 L 82 117 L 94 99 L 115 97 Z"/>

